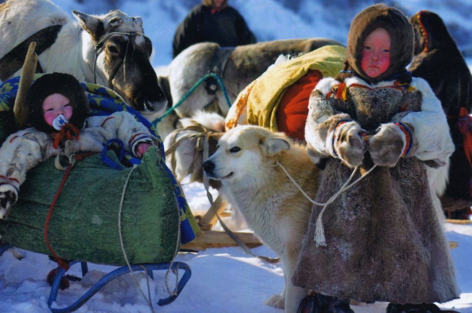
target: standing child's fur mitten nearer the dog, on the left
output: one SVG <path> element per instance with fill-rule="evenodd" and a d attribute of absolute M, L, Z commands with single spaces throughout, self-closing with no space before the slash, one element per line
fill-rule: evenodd
<path fill-rule="evenodd" d="M 341 122 L 334 130 L 334 152 L 349 167 L 362 163 L 367 145 L 360 134 L 365 132 L 355 121 Z"/>

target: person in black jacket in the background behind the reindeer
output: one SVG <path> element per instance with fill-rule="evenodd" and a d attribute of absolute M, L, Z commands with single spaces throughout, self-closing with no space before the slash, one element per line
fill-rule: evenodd
<path fill-rule="evenodd" d="M 206 41 L 235 47 L 256 43 L 256 37 L 241 14 L 227 5 L 227 0 L 202 0 L 177 27 L 173 57 L 193 44 Z"/>

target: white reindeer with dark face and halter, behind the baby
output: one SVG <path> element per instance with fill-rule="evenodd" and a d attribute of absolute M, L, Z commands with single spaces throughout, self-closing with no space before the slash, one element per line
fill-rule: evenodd
<path fill-rule="evenodd" d="M 148 120 L 161 116 L 167 99 L 149 60 L 152 43 L 143 20 L 119 10 L 72 14 L 76 21 L 49 0 L 0 4 L 0 79 L 21 74 L 29 42 L 36 41 L 42 72 L 106 86 Z"/>

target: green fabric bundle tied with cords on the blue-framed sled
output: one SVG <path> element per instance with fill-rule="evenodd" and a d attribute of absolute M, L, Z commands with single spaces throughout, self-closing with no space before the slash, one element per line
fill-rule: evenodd
<path fill-rule="evenodd" d="M 110 158 L 116 158 L 108 152 Z M 118 162 L 118 160 L 116 159 Z M 78 161 L 67 178 L 49 223 L 49 242 L 64 259 L 109 265 L 125 265 L 121 233 L 131 263 L 172 260 L 179 245 L 179 209 L 170 177 L 152 147 L 140 165 L 112 169 L 99 154 Z M 10 245 L 51 254 L 45 243 L 44 225 L 50 203 L 64 171 L 54 159 L 40 163 L 28 173 L 19 200 L 7 221 L 0 221 L 0 234 Z"/>

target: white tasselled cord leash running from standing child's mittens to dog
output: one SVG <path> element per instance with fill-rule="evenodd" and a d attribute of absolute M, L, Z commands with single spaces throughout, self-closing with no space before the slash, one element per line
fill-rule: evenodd
<path fill-rule="evenodd" d="M 316 242 L 316 246 L 326 246 L 326 239 L 324 237 L 324 226 L 323 226 L 323 221 L 322 221 L 322 218 L 323 218 L 323 213 L 324 213 L 324 210 L 326 210 L 326 207 L 332 203 L 338 196 L 339 194 L 341 194 L 342 192 L 346 191 L 347 189 L 349 189 L 350 187 L 352 187 L 353 185 L 357 184 L 359 181 L 361 181 L 361 179 L 363 179 L 364 177 L 366 177 L 367 175 L 369 175 L 373 170 L 374 168 L 377 167 L 377 165 L 374 165 L 373 167 L 371 167 L 367 172 L 365 172 L 363 175 L 361 175 L 361 177 L 359 177 L 358 179 L 356 179 L 355 181 L 353 181 L 351 184 L 347 185 L 351 180 L 352 180 L 352 177 L 354 177 L 354 175 L 356 174 L 356 172 L 358 171 L 359 169 L 359 166 L 356 166 L 354 168 L 354 170 L 352 171 L 352 173 L 350 174 L 349 178 L 346 180 L 346 182 L 341 186 L 341 188 L 339 188 L 339 190 L 334 193 L 329 199 L 328 201 L 326 201 L 325 203 L 319 203 L 319 202 L 316 202 L 314 200 L 312 200 L 308 194 L 306 194 L 305 191 L 303 191 L 303 189 L 300 187 L 300 185 L 293 179 L 292 176 L 290 176 L 289 172 L 285 169 L 285 167 L 279 163 L 279 161 L 277 161 L 276 165 L 280 166 L 280 168 L 282 168 L 282 170 L 285 172 L 285 174 L 287 175 L 288 178 L 290 178 L 290 180 L 295 184 L 295 186 L 297 186 L 298 190 L 300 190 L 300 192 L 311 202 L 313 203 L 313 206 L 314 205 L 319 205 L 319 206 L 322 206 L 323 208 L 321 209 L 321 212 L 319 213 L 318 215 L 318 218 L 316 219 L 316 227 L 315 227 L 315 236 L 313 238 L 313 240 Z"/>

